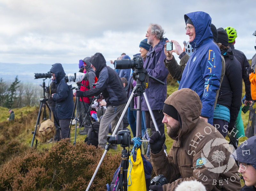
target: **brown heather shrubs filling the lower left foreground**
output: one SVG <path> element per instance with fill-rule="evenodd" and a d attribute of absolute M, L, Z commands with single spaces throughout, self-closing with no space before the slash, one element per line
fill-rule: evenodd
<path fill-rule="evenodd" d="M 2 146 L 8 157 L 0 166 L 1 190 L 85 190 L 102 157 L 103 150 L 70 139 L 56 142 L 51 149 L 38 152 L 24 147 L 18 140 Z M 3 149 L 4 148 L 4 149 Z M 16 156 L 14 153 L 23 152 Z M 121 154 L 106 154 L 90 190 L 106 190 L 121 163 Z"/>

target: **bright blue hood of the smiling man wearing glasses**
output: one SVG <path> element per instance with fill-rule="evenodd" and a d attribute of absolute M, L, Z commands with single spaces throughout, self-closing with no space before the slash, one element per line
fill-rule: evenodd
<path fill-rule="evenodd" d="M 193 22 L 196 31 L 195 39 L 192 42 L 190 42 L 193 48 L 199 47 L 202 44 L 202 42 L 207 38 L 213 40 L 211 31 L 212 18 L 208 13 L 203 11 L 196 11 L 185 14 L 185 23 L 187 22 L 188 18 L 190 18 L 191 21 Z"/>

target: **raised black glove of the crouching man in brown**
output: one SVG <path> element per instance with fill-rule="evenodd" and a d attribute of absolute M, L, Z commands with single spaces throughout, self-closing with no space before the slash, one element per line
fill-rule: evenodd
<path fill-rule="evenodd" d="M 153 133 L 149 140 L 151 152 L 153 154 L 159 153 L 164 145 L 165 134 L 161 136 L 160 131 Z"/>

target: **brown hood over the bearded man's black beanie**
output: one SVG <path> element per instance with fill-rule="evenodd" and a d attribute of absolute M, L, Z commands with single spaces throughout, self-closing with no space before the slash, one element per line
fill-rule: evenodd
<path fill-rule="evenodd" d="M 178 137 L 188 134 L 196 125 L 201 114 L 202 103 L 197 93 L 189 88 L 182 88 L 172 93 L 164 103 L 172 105 L 179 113 L 182 128 Z M 172 137 L 177 140 L 177 137 Z"/>

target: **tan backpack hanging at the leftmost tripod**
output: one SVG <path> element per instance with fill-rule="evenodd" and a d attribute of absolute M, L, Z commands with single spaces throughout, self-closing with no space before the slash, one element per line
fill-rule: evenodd
<path fill-rule="evenodd" d="M 56 127 L 54 125 L 54 118 L 53 113 L 51 111 L 51 119 L 47 119 L 44 122 L 42 122 L 43 118 L 43 112 L 41 113 L 41 118 L 39 121 L 39 125 L 37 125 L 36 128 L 36 139 L 42 143 L 45 143 L 47 140 L 50 140 L 51 138 L 54 138 L 54 135 L 56 134 Z M 42 123 L 41 123 L 42 122 Z"/>

